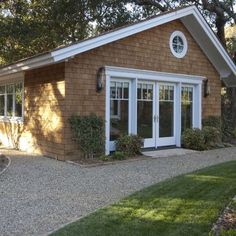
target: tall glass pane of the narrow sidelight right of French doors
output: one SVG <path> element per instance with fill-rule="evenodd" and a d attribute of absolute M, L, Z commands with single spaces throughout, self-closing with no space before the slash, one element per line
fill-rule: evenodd
<path fill-rule="evenodd" d="M 182 87 L 181 90 L 181 131 L 193 126 L 193 88 Z"/>

